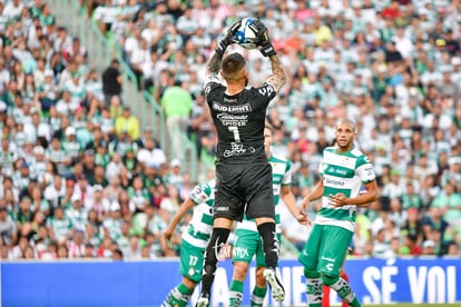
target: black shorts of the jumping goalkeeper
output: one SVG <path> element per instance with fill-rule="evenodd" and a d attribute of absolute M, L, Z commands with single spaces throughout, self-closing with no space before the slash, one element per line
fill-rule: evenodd
<path fill-rule="evenodd" d="M 216 164 L 215 217 L 241 221 L 248 218 L 275 218 L 272 167 L 268 162 Z"/>

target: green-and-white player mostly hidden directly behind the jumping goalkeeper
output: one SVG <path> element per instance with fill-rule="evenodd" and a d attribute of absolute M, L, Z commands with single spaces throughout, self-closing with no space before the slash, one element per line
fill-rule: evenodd
<path fill-rule="evenodd" d="M 296 209 L 296 200 L 291 190 L 292 166 L 290 160 L 275 156 L 271 152 L 273 127 L 266 123 L 264 128 L 264 147 L 267 160 L 272 166 L 272 182 L 275 204 L 275 224 L 277 239 L 281 240 L 281 215 L 279 199 L 282 198 L 292 215 L 301 222 L 308 224 L 308 218 L 304 212 Z M 238 222 L 235 230 L 233 261 L 234 275 L 229 288 L 229 307 L 237 307 L 243 300 L 243 285 L 248 273 L 249 263 L 256 255 L 256 283 L 252 291 L 252 306 L 263 306 L 264 297 L 267 293 L 267 283 L 263 276 L 266 263 L 264 259 L 263 241 L 257 231 L 254 219 L 247 219 L 244 215 L 242 222 Z"/>

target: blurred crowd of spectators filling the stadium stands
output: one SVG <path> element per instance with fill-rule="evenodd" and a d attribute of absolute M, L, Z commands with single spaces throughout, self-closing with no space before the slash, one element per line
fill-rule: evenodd
<path fill-rule="evenodd" d="M 360 209 L 353 254 L 460 255 L 460 1 L 184 2 L 81 6 L 167 120 L 190 113 L 183 129 L 203 155 L 216 140 L 202 92 L 206 59 L 226 26 L 262 19 L 290 76 L 267 120 L 274 151 L 292 160 L 295 196 L 317 180 L 335 120 L 352 118 L 381 189 Z M 0 1 L 0 257 L 176 256 L 178 234 L 169 245 L 161 231 L 196 182 L 121 100 L 118 61 L 91 69 L 47 1 Z M 251 83 L 266 79 L 259 52 L 229 49 L 248 52 Z M 308 228 L 286 215 L 284 235 L 301 249 Z"/>

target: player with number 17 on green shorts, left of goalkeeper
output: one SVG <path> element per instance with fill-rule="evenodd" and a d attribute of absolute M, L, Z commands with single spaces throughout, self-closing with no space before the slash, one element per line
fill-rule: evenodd
<path fill-rule="evenodd" d="M 213 231 L 214 204 L 215 180 L 212 179 L 194 188 L 164 232 L 165 238 L 169 240 L 183 217 L 194 208 L 192 220 L 187 230 L 183 232 L 180 241 L 179 273 L 183 275 L 183 283 L 169 291 L 163 307 L 186 306 L 196 285 L 202 279 L 204 252 Z"/>

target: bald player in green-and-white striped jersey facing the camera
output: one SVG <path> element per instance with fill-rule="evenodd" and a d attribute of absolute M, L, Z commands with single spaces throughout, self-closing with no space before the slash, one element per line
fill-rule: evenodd
<path fill-rule="evenodd" d="M 322 284 L 336 290 L 349 305 L 361 306 L 349 283 L 340 277 L 340 269 L 354 234 L 355 208 L 375 201 L 379 192 L 372 164 L 354 147 L 355 136 L 354 121 L 337 121 L 336 146 L 324 149 L 318 171 L 321 179 L 301 204 L 304 210 L 311 201 L 322 200 L 322 208 L 300 255 L 311 307 L 322 306 Z M 365 190 L 361 190 L 362 186 Z"/>

